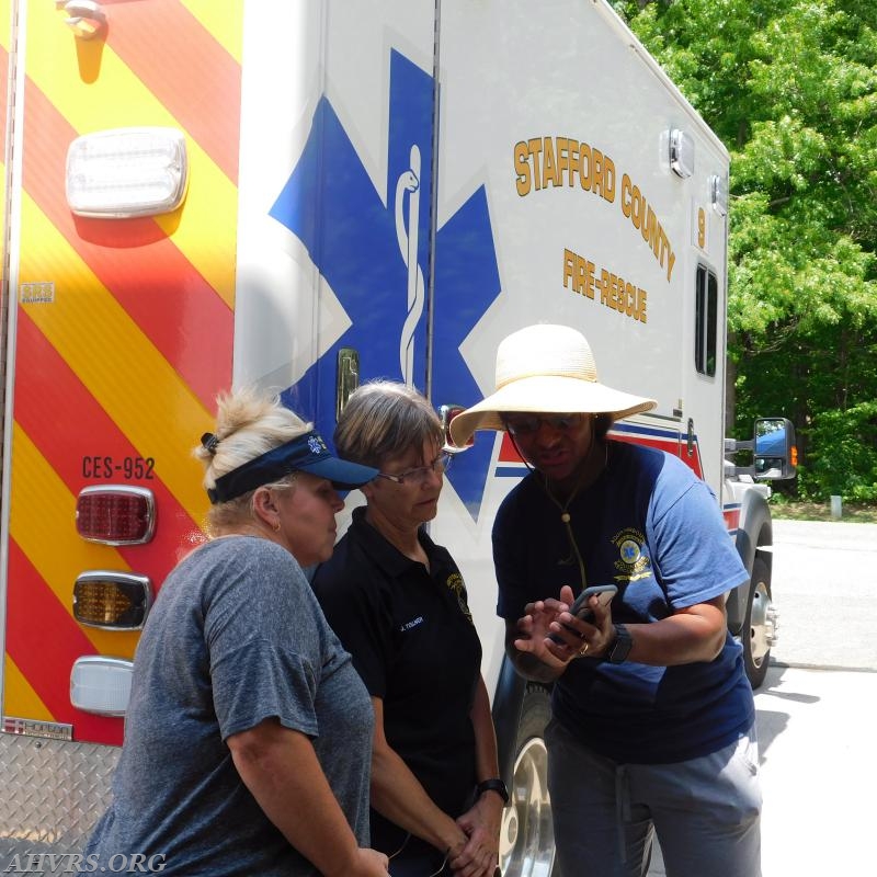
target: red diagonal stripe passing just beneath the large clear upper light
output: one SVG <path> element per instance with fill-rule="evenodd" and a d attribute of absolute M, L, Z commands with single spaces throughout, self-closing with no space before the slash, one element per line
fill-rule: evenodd
<path fill-rule="evenodd" d="M 25 190 L 212 410 L 230 381 L 231 310 L 151 219 L 75 223 L 64 181 L 67 147 L 77 132 L 31 80 L 25 106 Z"/>

